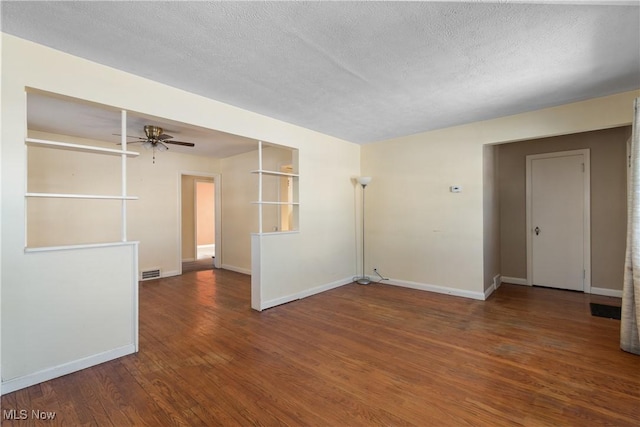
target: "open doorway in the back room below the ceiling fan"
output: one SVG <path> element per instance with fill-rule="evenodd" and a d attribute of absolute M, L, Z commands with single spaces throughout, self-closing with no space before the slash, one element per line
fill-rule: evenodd
<path fill-rule="evenodd" d="M 181 271 L 220 268 L 220 176 L 180 174 Z"/>

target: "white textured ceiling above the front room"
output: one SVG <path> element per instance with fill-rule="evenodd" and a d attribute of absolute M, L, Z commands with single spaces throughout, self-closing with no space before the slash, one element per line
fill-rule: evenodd
<path fill-rule="evenodd" d="M 1 7 L 3 32 L 357 143 L 640 87 L 637 1 Z"/>

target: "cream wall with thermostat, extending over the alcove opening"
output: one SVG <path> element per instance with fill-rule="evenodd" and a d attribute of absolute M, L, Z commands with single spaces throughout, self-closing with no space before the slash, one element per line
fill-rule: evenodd
<path fill-rule="evenodd" d="M 627 125 L 639 91 L 362 148 L 367 258 L 391 282 L 484 298 L 483 145 Z M 460 185 L 463 191 L 449 192 Z M 369 274 L 371 271 L 369 271 Z M 488 275 L 488 274 L 487 274 Z"/>

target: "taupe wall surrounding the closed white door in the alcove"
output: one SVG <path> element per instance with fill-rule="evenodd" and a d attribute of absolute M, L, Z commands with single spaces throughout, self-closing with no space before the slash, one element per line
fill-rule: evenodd
<path fill-rule="evenodd" d="M 498 146 L 502 274 L 527 277 L 525 159 L 529 154 L 591 151 L 591 286 L 622 289 L 626 245 L 626 141 L 631 127 Z"/>

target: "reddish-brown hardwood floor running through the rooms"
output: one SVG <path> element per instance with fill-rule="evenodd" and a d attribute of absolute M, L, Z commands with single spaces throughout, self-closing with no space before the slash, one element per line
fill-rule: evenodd
<path fill-rule="evenodd" d="M 248 276 L 140 285 L 140 352 L 2 397 L 3 426 L 638 426 L 615 299 L 503 285 L 488 301 L 351 284 L 266 310 Z"/>

